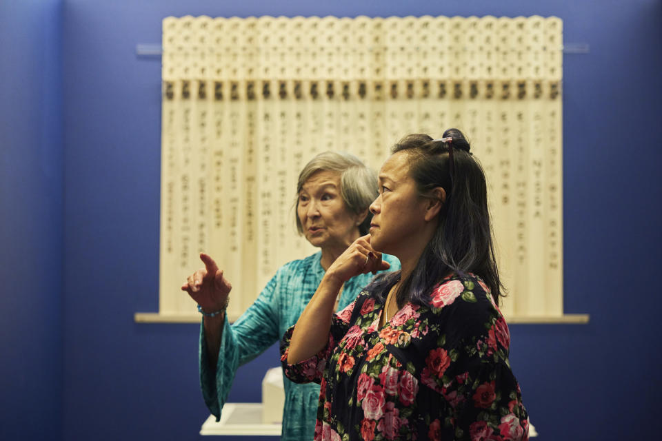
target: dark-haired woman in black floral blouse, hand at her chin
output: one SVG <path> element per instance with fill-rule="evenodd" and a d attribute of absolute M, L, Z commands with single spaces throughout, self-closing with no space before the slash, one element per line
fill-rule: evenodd
<path fill-rule="evenodd" d="M 370 234 L 348 247 L 288 330 L 285 374 L 321 381 L 316 440 L 523 440 L 485 176 L 461 132 L 410 135 L 381 167 Z M 328 318 L 339 288 L 384 269 Z"/>

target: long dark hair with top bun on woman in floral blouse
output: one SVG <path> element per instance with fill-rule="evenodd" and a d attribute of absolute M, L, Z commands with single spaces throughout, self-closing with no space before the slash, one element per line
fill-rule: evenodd
<path fill-rule="evenodd" d="M 421 197 L 432 197 L 432 189 L 437 187 L 446 193 L 437 231 L 398 289 L 398 307 L 408 301 L 428 305 L 434 285 L 450 274 L 465 273 L 479 276 L 498 305 L 503 286 L 494 257 L 488 189 L 483 167 L 473 158 L 464 134 L 457 129 L 446 130 L 442 139 L 411 134 L 398 141 L 391 152 L 410 155 L 409 174 Z M 384 301 L 398 280 L 400 271 L 380 274 L 366 289 Z"/>

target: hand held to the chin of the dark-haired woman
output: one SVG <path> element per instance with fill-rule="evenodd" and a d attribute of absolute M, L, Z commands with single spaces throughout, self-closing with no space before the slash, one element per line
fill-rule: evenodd
<path fill-rule="evenodd" d="M 389 268 L 389 263 L 381 260 L 381 253 L 372 249 L 370 234 L 366 234 L 354 240 L 354 243 L 331 264 L 326 273 L 344 283 L 359 274 L 368 272 L 376 274 L 377 271 Z"/>

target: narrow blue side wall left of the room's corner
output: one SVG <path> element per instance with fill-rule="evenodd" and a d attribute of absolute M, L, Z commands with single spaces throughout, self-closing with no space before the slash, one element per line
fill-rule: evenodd
<path fill-rule="evenodd" d="M 0 1 L 0 439 L 59 439 L 61 1 Z"/>

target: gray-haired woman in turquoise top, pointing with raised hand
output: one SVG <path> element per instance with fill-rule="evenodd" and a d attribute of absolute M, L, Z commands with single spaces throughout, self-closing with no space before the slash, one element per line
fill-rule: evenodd
<path fill-rule="evenodd" d="M 375 196 L 377 176 L 352 155 L 325 152 L 305 165 L 297 184 L 297 228 L 320 251 L 279 268 L 257 300 L 232 325 L 225 318 L 230 282 L 210 256 L 201 254 L 205 268 L 189 276 L 181 289 L 198 303 L 203 314 L 201 386 L 217 420 L 237 368 L 277 342 L 297 322 L 326 269 L 354 240 L 368 232 L 372 218 L 368 207 Z M 385 268 L 399 268 L 396 259 L 388 256 L 385 260 Z M 346 307 L 369 282 L 365 274 L 348 278 L 334 305 Z M 312 438 L 318 397 L 319 385 L 294 384 L 285 379 L 283 440 Z"/>

